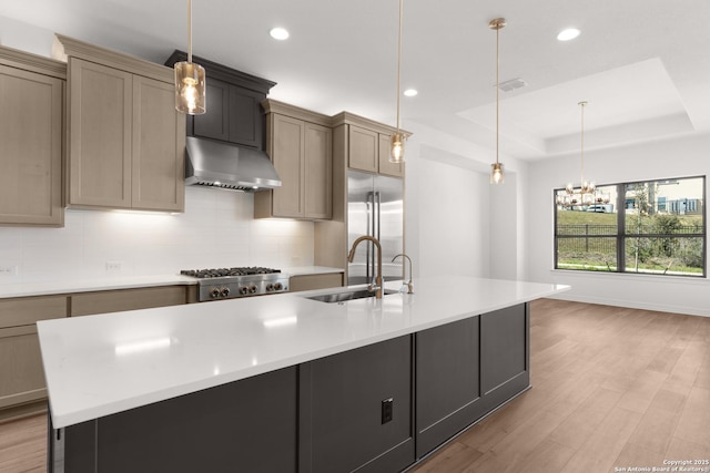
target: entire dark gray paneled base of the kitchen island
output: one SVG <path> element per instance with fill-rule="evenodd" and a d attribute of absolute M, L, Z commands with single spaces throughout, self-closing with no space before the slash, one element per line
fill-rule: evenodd
<path fill-rule="evenodd" d="M 49 471 L 399 472 L 528 388 L 529 306 L 520 304 L 50 425 Z"/>

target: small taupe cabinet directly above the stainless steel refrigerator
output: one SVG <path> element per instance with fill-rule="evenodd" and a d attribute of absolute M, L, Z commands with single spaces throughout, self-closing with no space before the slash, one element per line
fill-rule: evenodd
<path fill-rule="evenodd" d="M 344 142 L 348 168 L 404 177 L 404 164 L 389 162 L 389 137 L 396 132 L 394 127 L 349 112 L 336 115 L 333 127 L 347 137 Z"/>

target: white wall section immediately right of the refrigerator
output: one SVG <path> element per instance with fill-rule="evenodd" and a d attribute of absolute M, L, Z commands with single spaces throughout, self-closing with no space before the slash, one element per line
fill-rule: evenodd
<path fill-rule="evenodd" d="M 490 276 L 491 153 L 416 122 L 407 142 L 405 249 L 416 277 Z M 479 157 L 481 161 L 476 160 Z"/>

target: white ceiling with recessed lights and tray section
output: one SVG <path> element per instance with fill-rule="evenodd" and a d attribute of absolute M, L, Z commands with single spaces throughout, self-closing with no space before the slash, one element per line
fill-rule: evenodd
<path fill-rule="evenodd" d="M 181 0 L 4 1 L 0 17 L 163 62 L 187 47 Z M 397 0 L 194 0 L 193 52 L 277 83 L 271 97 L 395 124 Z M 707 0 L 405 0 L 402 97 L 417 125 L 495 148 L 496 34 L 500 152 L 540 160 L 710 131 Z M 291 32 L 275 41 L 271 28 Z M 581 30 L 560 42 L 559 31 Z M 0 43 L 2 35 L 0 33 Z M 209 76 L 207 76 L 209 80 Z"/>

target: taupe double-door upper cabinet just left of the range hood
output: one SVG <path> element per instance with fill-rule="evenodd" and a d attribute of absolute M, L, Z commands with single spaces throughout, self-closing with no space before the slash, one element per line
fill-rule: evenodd
<path fill-rule="evenodd" d="M 185 116 L 172 70 L 57 39 L 69 63 L 67 204 L 183 212 Z"/>

